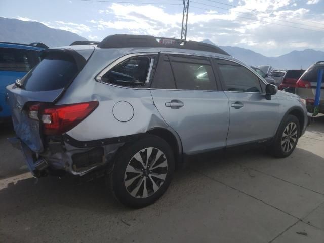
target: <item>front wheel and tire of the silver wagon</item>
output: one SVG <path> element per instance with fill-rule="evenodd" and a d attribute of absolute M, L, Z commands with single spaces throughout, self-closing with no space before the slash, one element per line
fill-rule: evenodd
<path fill-rule="evenodd" d="M 299 120 L 294 115 L 286 116 L 268 148 L 269 153 L 277 158 L 288 157 L 295 150 L 299 136 Z"/>

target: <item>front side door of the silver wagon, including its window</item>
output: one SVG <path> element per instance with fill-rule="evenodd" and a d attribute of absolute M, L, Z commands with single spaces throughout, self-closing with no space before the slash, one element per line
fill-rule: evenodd
<path fill-rule="evenodd" d="M 227 146 L 273 137 L 279 116 L 276 96 L 267 100 L 265 83 L 246 67 L 229 60 L 215 61 L 230 106 Z"/>

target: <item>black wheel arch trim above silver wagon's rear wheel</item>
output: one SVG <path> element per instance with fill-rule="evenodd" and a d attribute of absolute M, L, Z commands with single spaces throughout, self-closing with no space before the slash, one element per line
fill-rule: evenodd
<path fill-rule="evenodd" d="M 166 128 L 151 128 L 146 134 L 155 135 L 167 141 L 174 153 L 176 169 L 183 165 L 182 143 L 176 132 L 172 132 Z"/>

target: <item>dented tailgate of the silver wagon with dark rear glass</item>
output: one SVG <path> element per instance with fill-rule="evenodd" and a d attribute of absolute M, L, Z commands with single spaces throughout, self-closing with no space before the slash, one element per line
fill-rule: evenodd
<path fill-rule="evenodd" d="M 41 128 L 37 120 L 28 118 L 28 106 L 54 102 L 86 63 L 75 51 L 47 49 L 43 58 L 18 83 L 7 87 L 15 132 L 37 153 L 44 149 Z"/>

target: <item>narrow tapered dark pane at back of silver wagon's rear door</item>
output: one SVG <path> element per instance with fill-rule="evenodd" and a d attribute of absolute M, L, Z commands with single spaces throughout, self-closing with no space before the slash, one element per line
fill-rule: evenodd
<path fill-rule="evenodd" d="M 170 60 L 167 55 L 160 54 L 151 88 L 176 89 Z"/>

